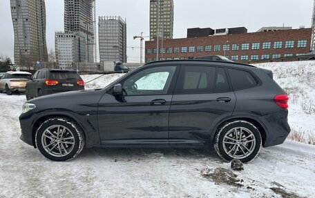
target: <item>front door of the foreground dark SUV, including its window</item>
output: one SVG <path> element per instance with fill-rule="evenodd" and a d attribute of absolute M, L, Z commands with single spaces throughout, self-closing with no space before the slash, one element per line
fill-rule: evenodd
<path fill-rule="evenodd" d="M 169 145 L 169 108 L 178 67 L 154 66 L 133 73 L 120 83 L 124 94 L 109 92 L 99 101 L 102 144 Z"/>

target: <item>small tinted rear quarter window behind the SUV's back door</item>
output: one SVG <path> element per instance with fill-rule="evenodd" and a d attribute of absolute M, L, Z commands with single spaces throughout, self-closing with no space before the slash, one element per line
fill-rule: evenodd
<path fill-rule="evenodd" d="M 245 70 L 229 69 L 229 75 L 234 90 L 244 90 L 258 86 L 256 79 L 250 72 Z"/>

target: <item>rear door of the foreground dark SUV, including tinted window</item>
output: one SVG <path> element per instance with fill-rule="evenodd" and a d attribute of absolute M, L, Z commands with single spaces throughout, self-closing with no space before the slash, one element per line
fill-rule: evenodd
<path fill-rule="evenodd" d="M 211 128 L 232 114 L 236 97 L 225 68 L 183 65 L 169 114 L 170 146 L 207 146 Z"/>

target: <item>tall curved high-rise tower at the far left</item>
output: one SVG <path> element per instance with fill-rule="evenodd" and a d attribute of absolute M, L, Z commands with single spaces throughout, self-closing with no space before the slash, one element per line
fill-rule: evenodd
<path fill-rule="evenodd" d="M 10 0 L 15 32 L 15 64 L 48 61 L 44 0 Z"/>

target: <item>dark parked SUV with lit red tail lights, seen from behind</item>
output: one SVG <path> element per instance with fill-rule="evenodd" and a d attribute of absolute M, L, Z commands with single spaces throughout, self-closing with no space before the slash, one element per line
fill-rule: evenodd
<path fill-rule="evenodd" d="M 41 69 L 26 83 L 26 99 L 73 90 L 84 90 L 84 81 L 77 72 Z"/>

